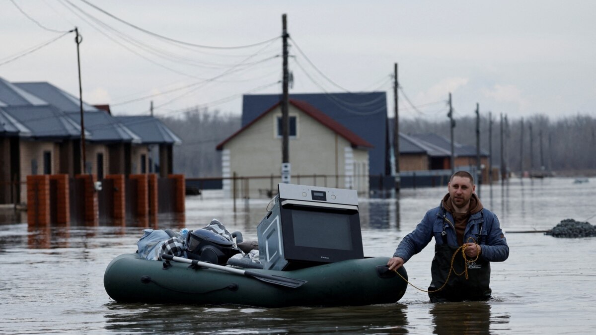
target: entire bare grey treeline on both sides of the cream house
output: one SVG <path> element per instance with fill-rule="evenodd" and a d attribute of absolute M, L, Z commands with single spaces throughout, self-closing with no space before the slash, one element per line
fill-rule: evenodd
<path fill-rule="evenodd" d="M 162 119 L 182 139 L 174 147 L 174 170 L 189 178 L 221 176 L 221 152 L 215 147 L 240 129 L 240 116 L 193 108 L 181 117 Z M 390 120 L 392 121 L 392 120 Z M 392 123 L 392 122 L 390 122 Z M 449 138 L 449 120 L 401 119 L 401 132 L 432 132 Z M 492 131 L 489 132 L 489 128 Z M 596 174 L 596 118 L 586 115 L 556 120 L 537 114 L 524 119 L 503 119 L 504 162 L 513 173 L 554 171 Z M 531 129 L 531 132 L 530 132 Z M 489 148 L 492 135 L 492 151 Z M 476 145 L 476 117 L 455 119 L 455 142 Z M 492 165 L 501 166 L 501 116 L 480 117 L 480 147 L 492 152 Z M 544 168 L 543 168 L 544 167 Z"/>

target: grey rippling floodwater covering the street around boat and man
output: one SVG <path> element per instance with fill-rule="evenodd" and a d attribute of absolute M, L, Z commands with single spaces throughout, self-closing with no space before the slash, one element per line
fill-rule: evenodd
<path fill-rule="evenodd" d="M 446 187 L 402 190 L 399 198 L 361 198 L 366 256 L 390 256 Z M 336 308 L 145 305 L 114 302 L 103 274 L 112 258 L 136 250 L 146 224 L 115 227 L 28 227 L 26 216 L 0 211 L 0 333 L 205 334 L 593 334 L 596 333 L 596 238 L 544 235 L 562 219 L 596 221 L 596 179 L 512 179 L 482 185 L 480 199 L 498 215 L 510 257 L 492 263 L 489 302 L 428 302 L 409 286 L 398 303 Z M 213 218 L 244 240 L 268 200 L 222 200 L 221 192 L 187 197 L 185 224 L 160 218 L 159 228 L 197 229 Z M 15 223 L 16 222 L 16 223 Z M 153 227 L 152 227 L 153 228 Z M 412 284 L 427 287 L 433 247 L 405 267 Z"/>

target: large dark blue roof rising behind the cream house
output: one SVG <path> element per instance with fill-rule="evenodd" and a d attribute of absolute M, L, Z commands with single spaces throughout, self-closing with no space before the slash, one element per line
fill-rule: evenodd
<path fill-rule="evenodd" d="M 371 145 L 370 174 L 385 173 L 387 98 L 385 92 L 290 94 L 305 101 Z M 281 101 L 280 94 L 244 95 L 242 126 Z"/>

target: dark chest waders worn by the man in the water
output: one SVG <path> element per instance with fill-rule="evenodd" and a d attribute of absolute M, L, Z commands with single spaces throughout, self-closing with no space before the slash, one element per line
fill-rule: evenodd
<path fill-rule="evenodd" d="M 445 216 L 443 216 L 445 218 Z M 479 231 L 479 240 L 476 243 L 482 243 L 482 227 Z M 449 275 L 451 269 L 451 259 L 460 246 L 449 246 L 447 243 L 447 233 L 442 232 L 443 244 L 435 244 L 434 258 L 430 267 L 432 282 L 429 291 L 442 287 Z M 468 279 L 465 278 L 465 260 L 461 250 L 457 252 L 453 261 L 453 271 L 449 275 L 449 281 L 442 290 L 429 292 L 432 302 L 462 301 L 462 300 L 488 300 L 491 298 L 491 263 L 486 260 L 477 259 L 476 262 L 469 263 Z M 461 274 L 461 275 L 457 275 Z"/>

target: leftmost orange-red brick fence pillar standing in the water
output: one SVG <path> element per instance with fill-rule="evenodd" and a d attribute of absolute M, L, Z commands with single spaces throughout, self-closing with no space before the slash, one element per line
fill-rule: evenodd
<path fill-rule="evenodd" d="M 27 176 L 27 222 L 49 225 L 49 176 Z"/>

